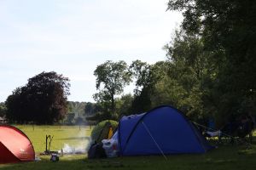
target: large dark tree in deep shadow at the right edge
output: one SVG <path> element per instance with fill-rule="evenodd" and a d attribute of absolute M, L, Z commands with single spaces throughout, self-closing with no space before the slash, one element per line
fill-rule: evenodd
<path fill-rule="evenodd" d="M 219 113 L 255 112 L 256 2 L 170 0 L 168 9 L 183 12 L 183 30 L 201 37 L 218 66 L 211 94 L 218 94 Z"/>

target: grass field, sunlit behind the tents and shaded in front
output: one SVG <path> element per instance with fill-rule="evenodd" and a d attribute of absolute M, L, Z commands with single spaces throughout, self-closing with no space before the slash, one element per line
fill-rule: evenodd
<path fill-rule="evenodd" d="M 18 126 L 32 140 L 36 152 L 44 151 L 45 134 L 54 135 L 52 146 L 60 150 L 63 144 L 77 145 L 90 134 L 89 127 Z M 256 139 L 254 139 L 255 141 Z M 1 153 L 0 153 L 1 154 Z M 85 155 L 60 157 L 51 162 L 49 156 L 40 156 L 41 161 L 0 165 L 0 169 L 256 169 L 256 145 L 224 145 L 200 155 L 133 156 L 101 160 L 87 160 Z"/>

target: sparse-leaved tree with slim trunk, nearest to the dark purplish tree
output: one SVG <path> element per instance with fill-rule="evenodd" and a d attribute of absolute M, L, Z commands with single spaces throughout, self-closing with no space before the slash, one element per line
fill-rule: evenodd
<path fill-rule="evenodd" d="M 125 85 L 131 82 L 131 75 L 127 71 L 125 61 L 106 61 L 98 65 L 94 71 L 96 76 L 96 89 L 99 90 L 94 98 L 98 102 L 103 102 L 105 108 L 110 106 L 108 114 L 115 114 L 115 96 L 124 91 Z"/>

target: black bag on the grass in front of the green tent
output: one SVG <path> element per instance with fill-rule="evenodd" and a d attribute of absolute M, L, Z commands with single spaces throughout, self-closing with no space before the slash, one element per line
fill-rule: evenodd
<path fill-rule="evenodd" d="M 90 149 L 88 150 L 88 159 L 107 157 L 105 150 L 102 146 L 102 142 L 98 144 L 96 142 L 94 144 L 91 144 Z"/>

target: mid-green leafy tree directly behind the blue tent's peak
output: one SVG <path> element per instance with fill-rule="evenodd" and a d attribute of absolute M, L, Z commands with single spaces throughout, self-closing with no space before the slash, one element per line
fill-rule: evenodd
<path fill-rule="evenodd" d="M 212 54 L 204 51 L 201 37 L 183 30 L 177 31 L 172 43 L 165 48 L 169 70 L 167 77 L 157 84 L 158 93 L 190 117 L 206 114 L 203 96 L 208 94 L 208 87 L 215 81 L 213 75 L 216 74 Z"/>

